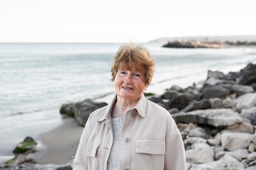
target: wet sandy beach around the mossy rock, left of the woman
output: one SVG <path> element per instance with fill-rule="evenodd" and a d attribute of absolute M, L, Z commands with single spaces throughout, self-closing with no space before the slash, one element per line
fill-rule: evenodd
<path fill-rule="evenodd" d="M 76 153 L 83 127 L 74 118 L 64 117 L 25 124 L 0 131 L 0 165 L 12 159 L 12 150 L 25 137 L 38 142 L 37 152 L 31 154 L 38 164 L 65 164 Z"/>

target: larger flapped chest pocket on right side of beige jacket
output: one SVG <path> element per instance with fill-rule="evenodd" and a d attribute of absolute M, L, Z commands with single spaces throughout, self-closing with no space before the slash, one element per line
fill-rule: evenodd
<path fill-rule="evenodd" d="M 165 138 L 138 137 L 136 170 L 164 170 Z"/>

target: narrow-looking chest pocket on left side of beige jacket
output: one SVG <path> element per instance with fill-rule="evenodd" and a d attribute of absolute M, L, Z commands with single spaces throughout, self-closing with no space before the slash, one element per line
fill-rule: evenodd
<path fill-rule="evenodd" d="M 100 143 L 97 141 L 88 141 L 87 143 L 86 156 L 88 159 L 88 168 L 91 170 L 94 170 L 96 166 L 99 145 Z"/>

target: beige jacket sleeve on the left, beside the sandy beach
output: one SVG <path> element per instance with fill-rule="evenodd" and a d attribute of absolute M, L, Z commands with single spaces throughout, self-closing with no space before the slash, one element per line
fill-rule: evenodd
<path fill-rule="evenodd" d="M 76 151 L 76 156 L 73 162 L 73 170 L 88 170 L 88 162 L 86 158 L 86 147 L 88 138 L 86 137 L 87 126 L 83 129 L 79 145 Z"/>

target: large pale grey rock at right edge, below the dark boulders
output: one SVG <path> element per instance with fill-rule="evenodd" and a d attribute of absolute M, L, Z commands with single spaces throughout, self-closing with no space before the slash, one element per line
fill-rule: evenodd
<path fill-rule="evenodd" d="M 234 102 L 236 103 L 236 109 L 238 109 L 238 111 L 256 107 L 256 93 L 247 93 L 239 96 Z"/>

